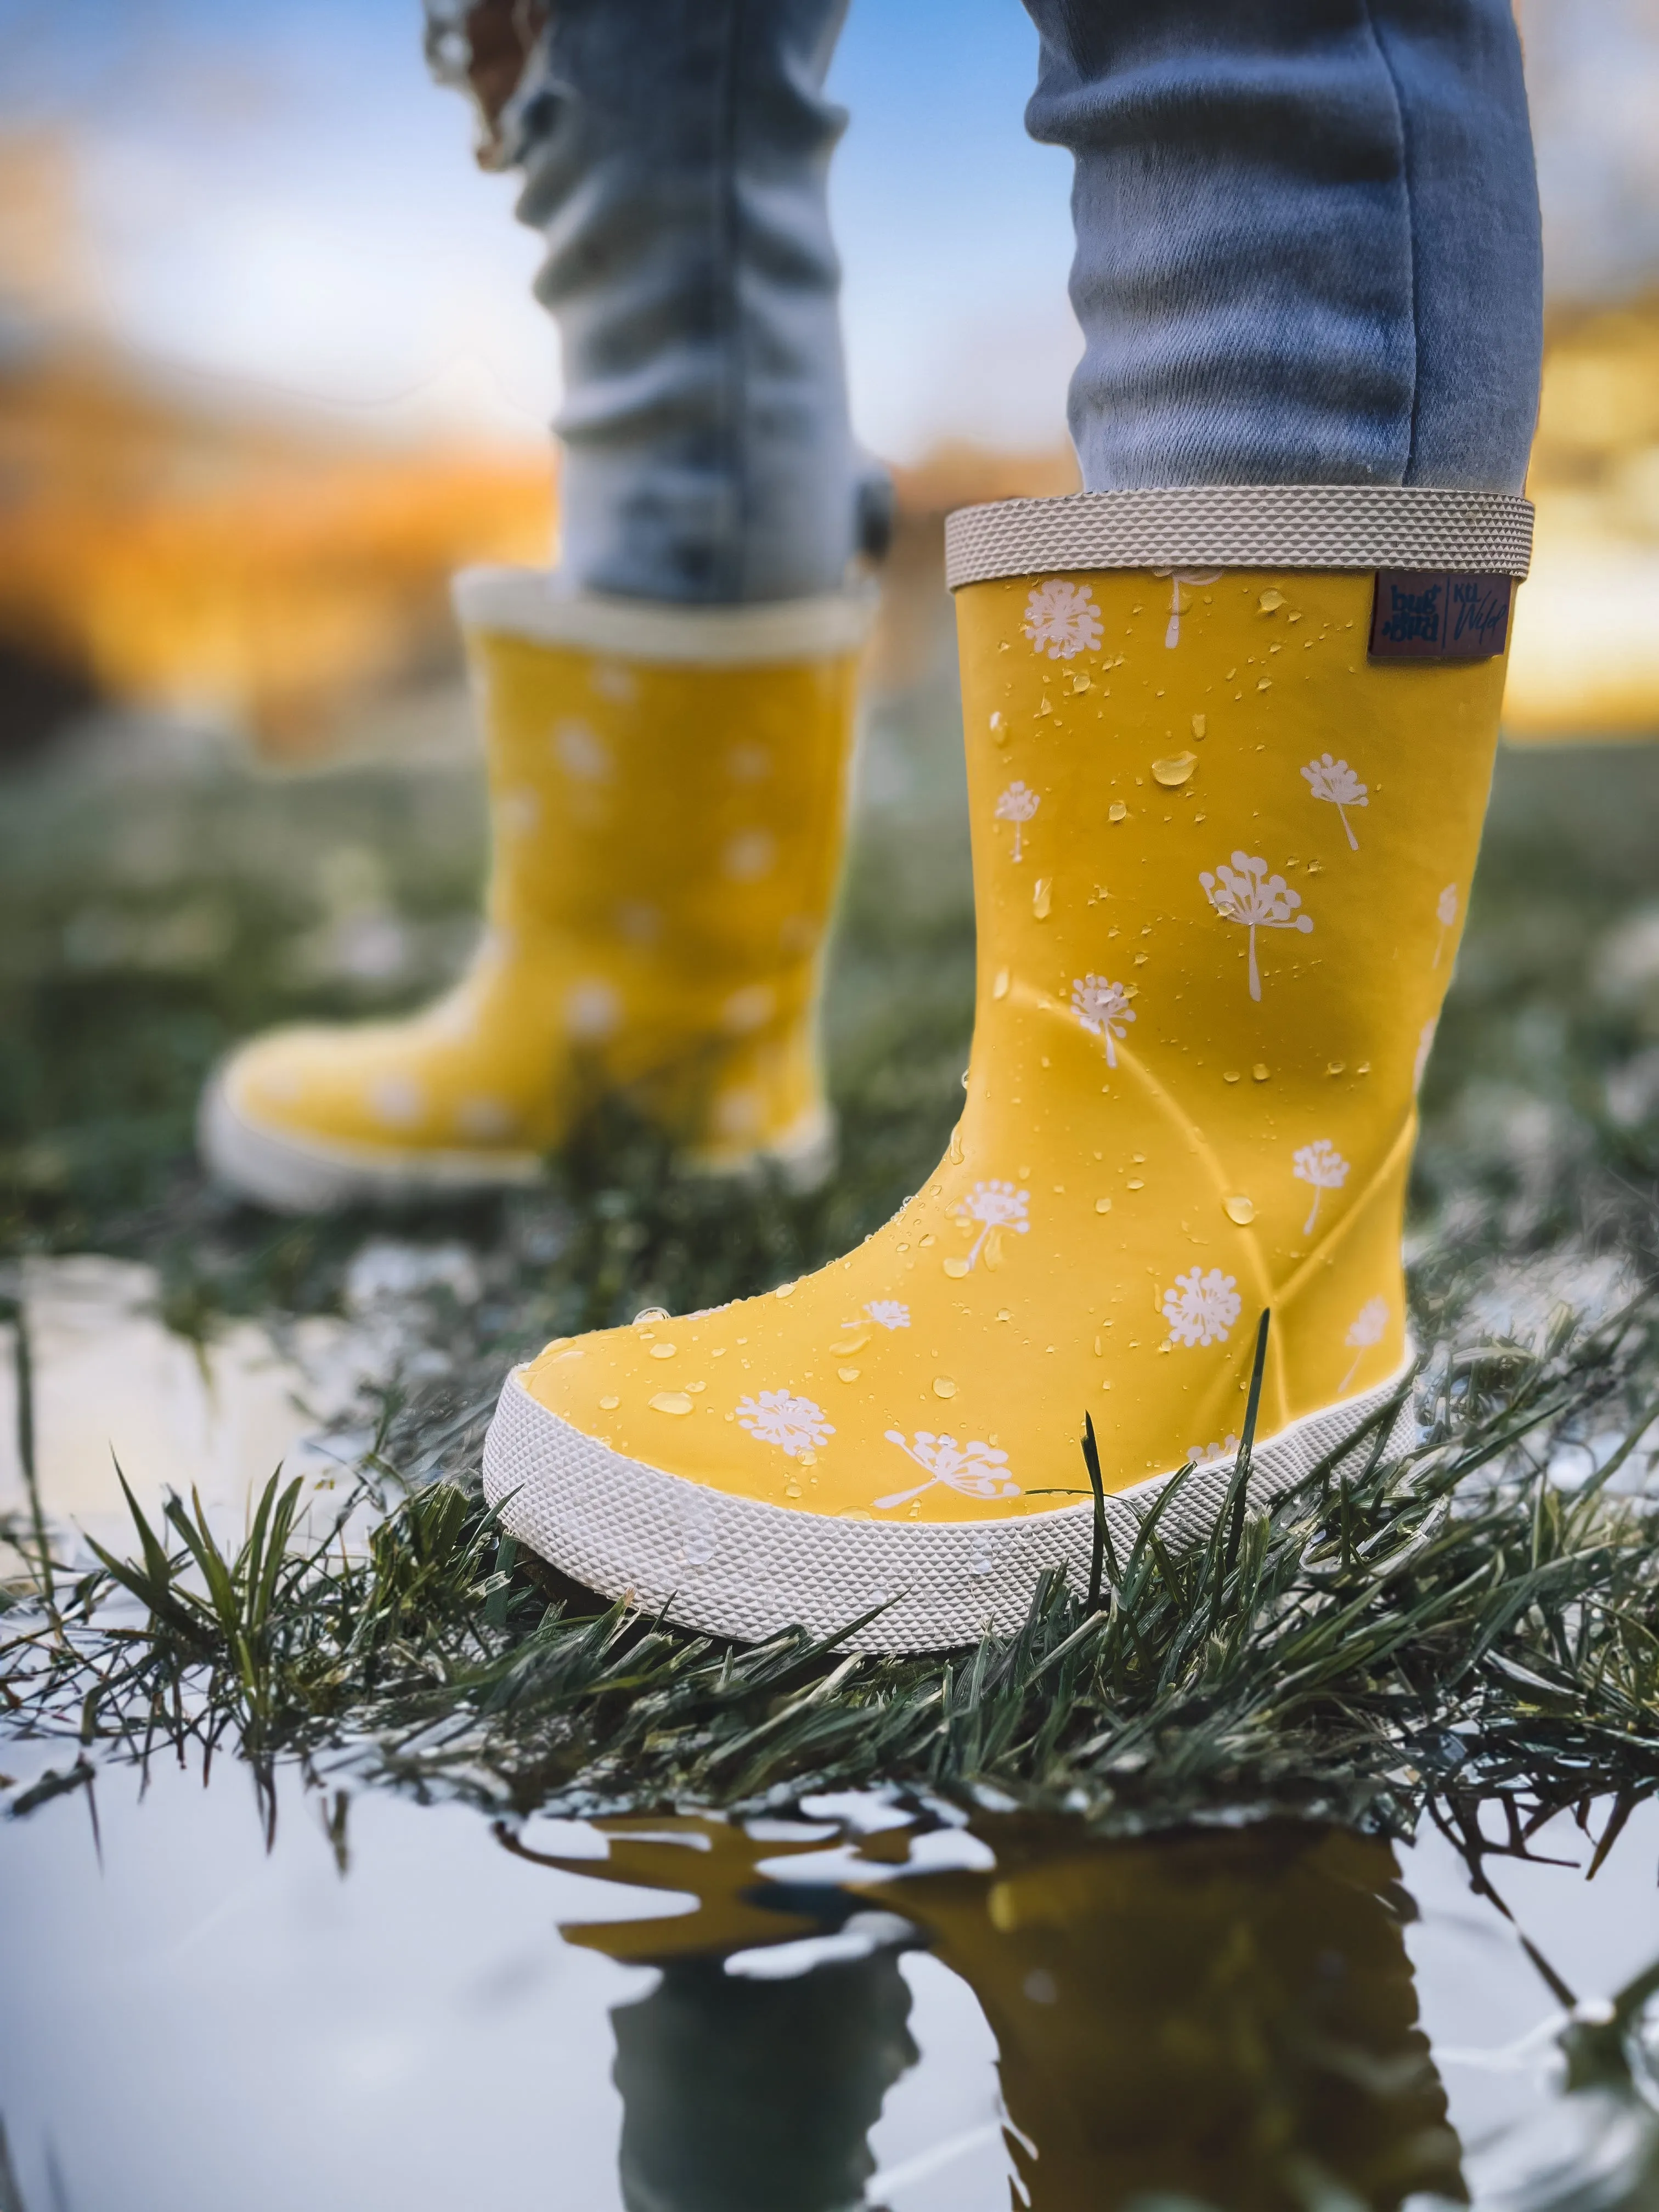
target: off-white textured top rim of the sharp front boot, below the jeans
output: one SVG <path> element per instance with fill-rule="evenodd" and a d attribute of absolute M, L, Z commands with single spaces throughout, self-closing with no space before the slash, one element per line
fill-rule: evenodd
<path fill-rule="evenodd" d="M 1533 507 L 1433 484 L 1183 484 L 991 500 L 945 518 L 945 582 L 1055 568 L 1455 568 L 1524 577 Z"/>

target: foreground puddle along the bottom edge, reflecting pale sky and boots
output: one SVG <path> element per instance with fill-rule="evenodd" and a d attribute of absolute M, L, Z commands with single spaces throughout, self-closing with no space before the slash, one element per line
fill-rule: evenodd
<path fill-rule="evenodd" d="M 102 1860 L 84 1796 L 0 1827 L 4 2212 L 1511 2205 L 1646 2112 L 1564 2097 L 1559 2033 L 1659 1958 L 1652 1809 L 1593 1885 L 1491 1863 L 1564 1991 L 1433 1834 L 369 1792 L 341 1867 L 299 1787 L 265 1851 L 230 1763 L 97 1814 Z"/>

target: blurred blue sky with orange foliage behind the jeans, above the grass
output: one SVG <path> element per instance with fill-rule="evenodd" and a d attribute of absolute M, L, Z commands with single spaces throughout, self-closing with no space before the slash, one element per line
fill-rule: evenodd
<path fill-rule="evenodd" d="M 0 745 L 95 701 L 265 757 L 453 672 L 447 571 L 551 542 L 557 347 L 416 0 L 0 0 Z M 1659 0 L 1524 0 L 1551 363 L 1517 734 L 1659 714 Z M 1018 0 L 854 0 L 832 88 L 860 436 L 898 465 L 878 677 L 938 518 L 1066 489 L 1068 164 Z M 927 86 L 918 100 L 916 88 Z"/>

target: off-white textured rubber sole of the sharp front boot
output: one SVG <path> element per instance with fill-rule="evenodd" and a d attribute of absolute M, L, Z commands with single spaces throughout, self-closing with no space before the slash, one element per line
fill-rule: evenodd
<path fill-rule="evenodd" d="M 1307 1475 L 1405 1380 L 1307 1413 L 1259 1442 L 1250 1500 L 1261 1506 Z M 1409 1400 L 1391 1449 L 1416 1436 Z M 1371 1438 L 1363 1447 L 1371 1449 Z M 1082 1455 L 1079 1455 L 1082 1464 Z M 1203 1542 L 1232 1480 L 1232 1460 L 1188 1475 L 1159 1528 L 1166 1542 Z M 1106 1500 L 1124 1559 L 1139 1520 L 1175 1478 L 1152 1475 Z M 1088 1588 L 1095 1504 L 987 1522 L 832 1520 L 664 1473 L 628 1460 L 540 1405 L 513 1369 L 484 1440 L 484 1495 L 502 1526 L 602 1597 L 628 1597 L 684 1628 L 759 1644 L 783 1628 L 834 1635 L 872 1606 L 874 1621 L 845 1650 L 925 1652 L 1020 1626 L 1037 1577 L 1064 1566 Z"/>

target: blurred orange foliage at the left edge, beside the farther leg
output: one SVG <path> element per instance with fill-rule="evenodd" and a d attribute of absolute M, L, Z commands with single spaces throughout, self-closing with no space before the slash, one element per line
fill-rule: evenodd
<path fill-rule="evenodd" d="M 376 447 L 142 374 L 97 338 L 0 361 L 0 639 L 274 754 L 453 659 L 449 573 L 549 557 L 551 453 Z"/>

